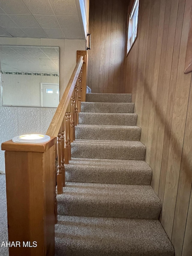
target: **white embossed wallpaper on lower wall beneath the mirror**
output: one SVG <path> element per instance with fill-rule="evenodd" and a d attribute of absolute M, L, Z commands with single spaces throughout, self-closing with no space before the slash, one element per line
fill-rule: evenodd
<path fill-rule="evenodd" d="M 14 136 L 45 134 L 56 108 L 0 107 L 0 145 Z M 14 164 L 14 163 L 13 163 Z M 5 172 L 4 151 L 0 150 L 0 173 Z"/>

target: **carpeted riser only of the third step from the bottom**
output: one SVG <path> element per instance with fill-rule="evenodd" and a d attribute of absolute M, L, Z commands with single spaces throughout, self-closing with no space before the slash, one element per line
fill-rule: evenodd
<path fill-rule="evenodd" d="M 150 185 L 152 171 L 143 172 L 119 170 L 88 165 L 65 165 L 66 182 L 127 184 L 127 185 Z"/>

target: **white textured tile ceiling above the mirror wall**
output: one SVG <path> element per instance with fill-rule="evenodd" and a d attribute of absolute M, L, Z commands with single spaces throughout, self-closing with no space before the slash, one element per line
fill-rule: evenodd
<path fill-rule="evenodd" d="M 0 0 L 0 36 L 85 39 L 75 0 Z"/>

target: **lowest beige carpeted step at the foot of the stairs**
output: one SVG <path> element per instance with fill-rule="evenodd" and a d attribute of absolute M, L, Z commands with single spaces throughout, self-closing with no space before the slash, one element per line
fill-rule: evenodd
<path fill-rule="evenodd" d="M 160 221 L 58 215 L 57 256 L 174 256 Z"/>

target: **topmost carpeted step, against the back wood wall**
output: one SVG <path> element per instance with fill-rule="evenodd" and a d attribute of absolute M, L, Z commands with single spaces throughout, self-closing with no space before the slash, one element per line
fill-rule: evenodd
<path fill-rule="evenodd" d="M 87 93 L 88 102 L 131 102 L 131 94 L 124 93 Z"/>

